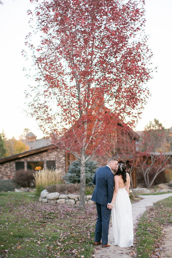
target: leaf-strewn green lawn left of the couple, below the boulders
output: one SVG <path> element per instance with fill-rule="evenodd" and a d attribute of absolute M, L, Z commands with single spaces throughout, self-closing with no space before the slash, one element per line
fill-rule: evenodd
<path fill-rule="evenodd" d="M 44 204 L 34 193 L 0 193 L 0 257 L 82 257 L 93 252 L 95 206 Z"/>

